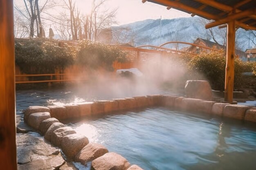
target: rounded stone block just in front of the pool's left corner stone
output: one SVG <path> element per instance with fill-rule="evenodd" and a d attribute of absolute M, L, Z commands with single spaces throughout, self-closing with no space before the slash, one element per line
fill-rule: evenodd
<path fill-rule="evenodd" d="M 49 118 L 51 118 L 51 115 L 49 112 L 32 113 L 29 115 L 27 119 L 27 123 L 29 124 L 29 126 L 37 130 L 39 128 L 40 123 L 45 119 L 49 119 Z"/>

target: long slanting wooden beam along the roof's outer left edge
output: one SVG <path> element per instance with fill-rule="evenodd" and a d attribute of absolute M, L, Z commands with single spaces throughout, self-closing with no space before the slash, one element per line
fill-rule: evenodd
<path fill-rule="evenodd" d="M 218 20 L 218 17 L 216 15 L 212 15 L 210 13 L 198 10 L 196 8 L 186 6 L 180 2 L 169 1 L 169 0 L 154 0 L 154 1 L 152 0 L 152 2 L 158 2 L 160 4 L 163 4 L 166 7 L 172 7 L 175 9 L 187 11 L 189 13 L 194 13 L 195 15 L 201 16 L 203 18 Z"/>

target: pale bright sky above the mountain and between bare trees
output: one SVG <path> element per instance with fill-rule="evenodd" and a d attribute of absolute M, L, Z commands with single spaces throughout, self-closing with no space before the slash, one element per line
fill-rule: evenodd
<path fill-rule="evenodd" d="M 92 0 L 75 0 L 81 11 L 90 11 Z M 175 9 L 167 10 L 166 7 L 152 2 L 142 3 L 141 0 L 108 0 L 106 8 L 117 10 L 117 21 L 119 25 L 146 19 L 172 19 L 190 17 L 188 13 Z"/>

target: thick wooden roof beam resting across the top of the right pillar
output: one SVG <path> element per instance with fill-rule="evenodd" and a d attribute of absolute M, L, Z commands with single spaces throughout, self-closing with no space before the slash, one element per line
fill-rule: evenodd
<path fill-rule="evenodd" d="M 255 13 L 256 13 L 256 9 L 248 9 L 248 10 L 245 10 L 245 11 L 242 11 L 242 12 L 238 12 L 238 13 L 229 15 L 226 18 L 223 18 L 223 19 L 220 19 L 220 20 L 216 20 L 214 22 L 210 22 L 210 23 L 205 25 L 205 28 L 209 29 L 209 28 L 212 28 L 214 26 L 226 24 L 230 20 L 237 20 L 239 18 L 244 18 L 244 17 L 247 17 L 249 15 L 253 15 Z"/>

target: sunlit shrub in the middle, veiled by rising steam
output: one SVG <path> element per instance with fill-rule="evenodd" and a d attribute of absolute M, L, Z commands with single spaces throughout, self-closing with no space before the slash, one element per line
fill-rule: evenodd
<path fill-rule="evenodd" d="M 112 71 L 114 61 L 125 62 L 126 53 L 117 46 L 84 40 L 79 43 L 77 62 L 90 68 L 103 66 Z"/>

